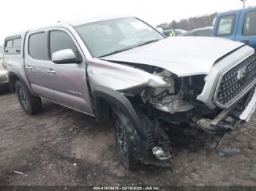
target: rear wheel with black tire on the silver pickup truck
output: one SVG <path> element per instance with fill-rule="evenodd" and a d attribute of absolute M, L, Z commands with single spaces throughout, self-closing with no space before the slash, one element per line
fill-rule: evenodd
<path fill-rule="evenodd" d="M 33 115 L 42 111 L 42 100 L 38 96 L 31 95 L 26 87 L 17 81 L 15 84 L 16 95 L 20 106 L 26 114 Z"/>

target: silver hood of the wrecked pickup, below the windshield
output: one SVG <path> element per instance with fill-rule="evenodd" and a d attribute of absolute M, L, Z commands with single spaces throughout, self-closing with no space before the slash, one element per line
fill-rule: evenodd
<path fill-rule="evenodd" d="M 158 66 L 184 77 L 208 74 L 219 58 L 243 45 L 222 38 L 177 36 L 102 59 Z"/>

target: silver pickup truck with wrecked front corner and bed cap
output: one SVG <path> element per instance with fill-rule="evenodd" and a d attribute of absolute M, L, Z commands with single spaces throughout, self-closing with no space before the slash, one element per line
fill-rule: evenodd
<path fill-rule="evenodd" d="M 59 22 L 7 36 L 4 61 L 26 114 L 41 98 L 115 124 L 128 169 L 165 164 L 169 130 L 210 135 L 241 128 L 255 111 L 255 50 L 211 37 L 173 37 L 136 17 Z"/>

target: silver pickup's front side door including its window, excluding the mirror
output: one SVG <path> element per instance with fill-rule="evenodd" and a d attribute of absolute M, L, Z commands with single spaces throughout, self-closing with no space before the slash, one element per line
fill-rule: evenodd
<path fill-rule="evenodd" d="M 78 44 L 69 31 L 64 29 L 50 30 L 50 58 L 54 52 L 65 49 L 70 49 L 77 57 L 82 57 Z M 53 78 L 53 83 L 50 85 L 53 90 L 53 101 L 91 114 L 85 59 L 81 63 L 56 64 L 50 62 L 48 73 Z"/>

